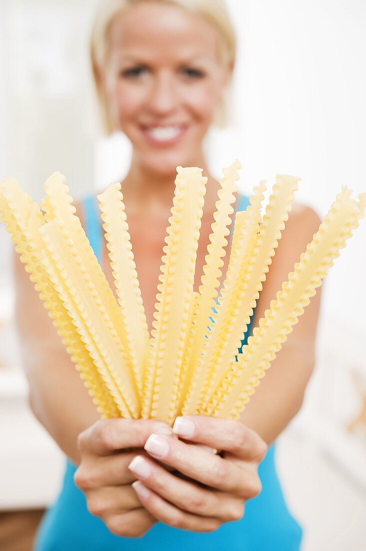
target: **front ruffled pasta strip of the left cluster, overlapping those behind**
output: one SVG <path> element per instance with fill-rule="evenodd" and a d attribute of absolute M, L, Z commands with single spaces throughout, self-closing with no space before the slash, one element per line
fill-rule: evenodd
<path fill-rule="evenodd" d="M 121 342 L 72 237 L 59 219 L 42 226 L 40 233 L 45 269 L 122 417 L 138 418 L 138 396 Z"/>

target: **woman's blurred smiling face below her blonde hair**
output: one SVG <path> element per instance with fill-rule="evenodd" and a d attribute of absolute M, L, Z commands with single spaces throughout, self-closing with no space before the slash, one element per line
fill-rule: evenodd
<path fill-rule="evenodd" d="M 114 19 L 108 39 L 108 109 L 134 158 L 161 174 L 192 165 L 230 78 L 216 29 L 180 7 L 142 2 Z"/>

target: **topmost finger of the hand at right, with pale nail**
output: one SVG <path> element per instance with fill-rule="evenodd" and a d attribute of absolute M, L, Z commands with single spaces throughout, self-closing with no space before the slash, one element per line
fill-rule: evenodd
<path fill-rule="evenodd" d="M 268 447 L 258 433 L 243 423 L 207 415 L 177 417 L 173 433 L 184 440 L 229 451 L 248 461 L 262 461 Z"/>

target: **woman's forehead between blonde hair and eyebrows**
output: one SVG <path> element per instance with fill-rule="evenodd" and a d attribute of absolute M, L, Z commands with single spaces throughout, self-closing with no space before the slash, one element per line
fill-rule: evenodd
<path fill-rule="evenodd" d="M 208 60 L 217 58 L 218 36 L 201 15 L 163 2 L 141 2 L 124 10 L 108 33 L 111 55 Z"/>

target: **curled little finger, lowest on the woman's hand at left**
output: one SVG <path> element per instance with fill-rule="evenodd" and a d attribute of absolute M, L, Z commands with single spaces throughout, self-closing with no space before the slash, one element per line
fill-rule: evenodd
<path fill-rule="evenodd" d="M 141 507 L 127 513 L 112 514 L 108 516 L 105 523 L 115 536 L 139 538 L 156 524 L 156 518 Z"/>

